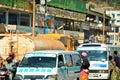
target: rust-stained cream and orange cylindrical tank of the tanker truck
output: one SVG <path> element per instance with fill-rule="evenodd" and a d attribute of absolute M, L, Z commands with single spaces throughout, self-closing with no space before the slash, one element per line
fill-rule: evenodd
<path fill-rule="evenodd" d="M 0 56 L 4 59 L 10 51 L 21 60 L 26 52 L 37 50 L 65 50 L 64 44 L 55 39 L 34 37 L 23 34 L 6 34 L 0 38 Z"/>

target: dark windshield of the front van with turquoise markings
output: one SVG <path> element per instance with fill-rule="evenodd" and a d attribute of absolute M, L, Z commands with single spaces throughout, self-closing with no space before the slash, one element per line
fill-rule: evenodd
<path fill-rule="evenodd" d="M 56 57 L 24 57 L 19 67 L 50 67 L 56 66 Z"/>

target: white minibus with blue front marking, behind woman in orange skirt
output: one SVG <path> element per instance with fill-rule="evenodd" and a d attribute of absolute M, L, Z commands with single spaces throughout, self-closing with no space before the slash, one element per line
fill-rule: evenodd
<path fill-rule="evenodd" d="M 120 47 L 102 43 L 84 43 L 77 47 L 76 51 L 80 54 L 86 52 L 90 62 L 89 79 L 108 80 L 110 76 L 109 55 L 114 51 L 120 52 Z"/>

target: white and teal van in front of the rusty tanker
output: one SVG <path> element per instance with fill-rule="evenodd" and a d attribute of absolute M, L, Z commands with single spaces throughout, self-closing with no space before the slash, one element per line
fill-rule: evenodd
<path fill-rule="evenodd" d="M 78 52 L 42 50 L 27 52 L 17 67 L 15 80 L 79 80 Z"/>

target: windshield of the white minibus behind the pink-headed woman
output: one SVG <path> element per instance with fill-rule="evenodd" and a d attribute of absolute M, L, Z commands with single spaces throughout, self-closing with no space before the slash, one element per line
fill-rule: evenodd
<path fill-rule="evenodd" d="M 106 61 L 107 60 L 107 51 L 105 50 L 79 50 L 80 54 L 86 52 L 88 54 L 89 61 Z"/>

